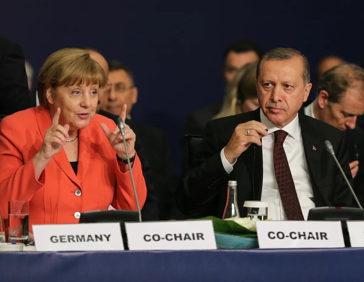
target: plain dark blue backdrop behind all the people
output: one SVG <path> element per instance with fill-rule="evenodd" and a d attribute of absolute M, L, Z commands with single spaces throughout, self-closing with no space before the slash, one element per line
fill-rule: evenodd
<path fill-rule="evenodd" d="M 0 4 L 0 36 L 21 44 L 35 76 L 63 47 L 91 46 L 128 64 L 139 87 L 132 117 L 168 133 L 179 167 L 186 114 L 223 97 L 227 44 L 293 47 L 311 66 L 329 54 L 358 63 L 363 8 L 359 0 L 11 1 Z"/>

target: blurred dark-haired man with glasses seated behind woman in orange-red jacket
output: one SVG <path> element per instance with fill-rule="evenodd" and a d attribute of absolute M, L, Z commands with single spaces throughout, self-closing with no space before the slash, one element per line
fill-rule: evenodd
<path fill-rule="evenodd" d="M 154 185 L 158 200 L 159 217 L 154 220 L 182 219 L 175 200 L 177 175 L 173 168 L 167 136 L 157 128 L 152 128 L 131 119 L 131 110 L 138 99 L 138 89 L 130 68 L 112 60 L 108 62 L 110 90 L 106 102 L 99 114 L 116 122 L 118 113 L 124 104 L 127 105 L 126 124 L 135 132 L 135 150 L 139 158 L 150 168 L 150 179 Z M 143 160 L 140 156 L 142 150 Z M 144 169 L 143 169 L 144 173 Z"/>

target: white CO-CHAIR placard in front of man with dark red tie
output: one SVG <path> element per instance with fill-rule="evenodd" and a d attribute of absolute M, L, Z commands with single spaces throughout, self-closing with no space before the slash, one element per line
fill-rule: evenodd
<path fill-rule="evenodd" d="M 257 221 L 260 248 L 345 247 L 339 221 Z"/>

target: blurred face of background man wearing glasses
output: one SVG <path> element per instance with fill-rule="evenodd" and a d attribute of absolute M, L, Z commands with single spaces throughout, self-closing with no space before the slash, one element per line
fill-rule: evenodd
<path fill-rule="evenodd" d="M 137 102 L 138 89 L 132 85 L 129 75 L 124 70 L 110 71 L 109 81 L 111 88 L 103 110 L 119 115 L 126 104 L 126 116 L 130 117 L 131 108 Z"/>

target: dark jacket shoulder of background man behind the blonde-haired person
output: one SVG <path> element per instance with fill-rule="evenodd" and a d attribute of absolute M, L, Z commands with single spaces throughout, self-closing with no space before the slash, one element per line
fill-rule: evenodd
<path fill-rule="evenodd" d="M 202 135 L 207 122 L 221 110 L 222 101 L 207 105 L 188 114 L 185 122 L 185 134 Z"/>

